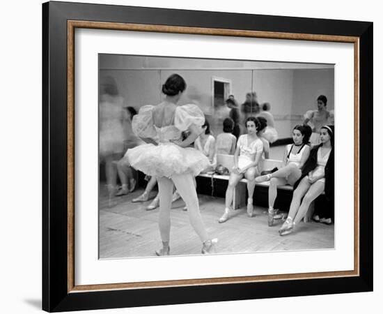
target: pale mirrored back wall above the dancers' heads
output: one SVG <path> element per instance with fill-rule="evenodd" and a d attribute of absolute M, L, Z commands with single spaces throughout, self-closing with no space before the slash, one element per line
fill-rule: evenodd
<path fill-rule="evenodd" d="M 258 103 L 269 103 L 279 139 L 290 138 L 292 128 L 302 124 L 305 112 L 316 109 L 320 94 L 327 96 L 327 109 L 334 110 L 334 66 L 329 64 L 100 54 L 100 77 L 113 76 L 124 105 L 136 110 L 162 100 L 159 88 L 154 87 L 160 87 L 172 73 L 182 75 L 187 82 L 180 105 L 194 103 L 201 107 L 214 136 L 222 133 L 214 99 L 220 104 L 227 90 L 239 105 L 253 91 Z M 224 77 L 231 82 L 230 87 L 212 80 L 213 77 Z"/>

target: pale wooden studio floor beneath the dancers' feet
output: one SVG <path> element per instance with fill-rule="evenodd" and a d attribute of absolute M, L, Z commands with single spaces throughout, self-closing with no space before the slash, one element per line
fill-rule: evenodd
<path fill-rule="evenodd" d="M 146 211 L 150 203 L 132 203 L 143 190 L 114 198 L 108 207 L 107 193 L 100 186 L 99 249 L 100 258 L 146 257 L 155 255 L 161 240 L 158 230 L 158 211 Z M 151 197 L 157 191 L 153 191 Z M 281 220 L 267 226 L 265 208 L 256 207 L 256 216 L 249 218 L 246 208 L 237 209 L 226 223 L 218 223 L 224 211 L 224 198 L 198 195 L 201 215 L 212 238 L 219 239 L 217 253 L 248 253 L 267 251 L 300 251 L 334 248 L 334 225 L 300 223 L 296 231 L 279 236 Z M 201 253 L 201 242 L 189 224 L 185 203 L 178 200 L 171 209 L 171 255 Z"/>

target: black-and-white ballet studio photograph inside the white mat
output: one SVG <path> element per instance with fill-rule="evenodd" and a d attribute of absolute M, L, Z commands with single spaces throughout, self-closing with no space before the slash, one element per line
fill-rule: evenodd
<path fill-rule="evenodd" d="M 98 55 L 99 258 L 334 249 L 334 64 Z"/>

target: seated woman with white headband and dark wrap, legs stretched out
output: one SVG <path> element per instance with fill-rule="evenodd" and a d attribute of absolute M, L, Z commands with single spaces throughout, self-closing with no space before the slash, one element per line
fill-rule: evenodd
<path fill-rule="evenodd" d="M 295 225 L 306 215 L 311 202 L 323 192 L 327 199 L 334 200 L 334 138 L 334 126 L 320 128 L 322 144 L 311 149 L 310 156 L 302 167 L 302 177 L 294 186 L 288 218 L 279 229 L 281 236 L 294 230 Z"/>

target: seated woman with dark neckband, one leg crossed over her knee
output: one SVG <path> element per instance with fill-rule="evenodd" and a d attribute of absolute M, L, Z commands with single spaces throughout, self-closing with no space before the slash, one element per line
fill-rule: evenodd
<path fill-rule="evenodd" d="M 283 167 L 271 174 L 256 177 L 256 182 L 270 181 L 269 185 L 269 211 L 267 222 L 271 227 L 275 218 L 274 202 L 278 186 L 290 184 L 294 186 L 295 182 L 302 176 L 302 167 L 310 154 L 309 140 L 311 136 L 311 128 L 309 126 L 295 126 L 292 129 L 292 140 L 294 144 L 286 146 L 283 156 Z"/>

